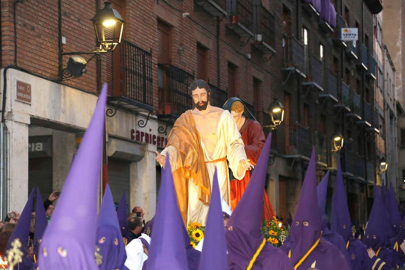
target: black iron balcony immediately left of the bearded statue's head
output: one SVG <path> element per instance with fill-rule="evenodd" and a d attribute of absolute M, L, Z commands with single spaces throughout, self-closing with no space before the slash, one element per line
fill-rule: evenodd
<path fill-rule="evenodd" d="M 192 99 L 188 87 L 194 75 L 172 64 L 158 64 L 158 90 L 160 118 L 176 119 L 191 109 Z"/>

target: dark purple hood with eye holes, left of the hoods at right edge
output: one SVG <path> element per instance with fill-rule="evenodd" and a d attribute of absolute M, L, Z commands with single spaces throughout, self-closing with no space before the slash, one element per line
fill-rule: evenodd
<path fill-rule="evenodd" d="M 384 208 L 378 187 L 374 185 L 374 202 L 367 223 L 364 244 L 377 251 L 379 247 L 388 247 L 388 215 Z"/>

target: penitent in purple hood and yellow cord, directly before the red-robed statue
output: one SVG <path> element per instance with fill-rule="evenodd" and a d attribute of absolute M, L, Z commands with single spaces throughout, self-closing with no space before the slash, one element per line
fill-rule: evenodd
<path fill-rule="evenodd" d="M 288 257 L 268 243 L 260 229 L 270 144 L 271 133 L 264 144 L 251 181 L 226 226 L 229 269 L 246 269 L 263 243 L 264 246 L 254 260 L 252 269 L 293 269 Z"/>

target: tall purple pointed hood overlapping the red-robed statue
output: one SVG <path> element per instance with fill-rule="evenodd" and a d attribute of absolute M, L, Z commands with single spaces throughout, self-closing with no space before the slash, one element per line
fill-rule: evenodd
<path fill-rule="evenodd" d="M 251 180 L 232 212 L 226 227 L 228 262 L 232 261 L 241 268 L 248 267 L 250 260 L 264 239 L 261 231 L 263 190 L 266 183 L 270 146 L 271 133 L 264 144 Z"/>

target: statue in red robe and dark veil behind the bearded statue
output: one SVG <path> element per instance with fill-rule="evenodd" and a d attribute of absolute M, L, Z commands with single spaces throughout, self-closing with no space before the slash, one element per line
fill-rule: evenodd
<path fill-rule="evenodd" d="M 236 125 L 239 129 L 242 140 L 245 143 L 245 152 L 246 156 L 251 163 L 256 164 L 260 153 L 262 152 L 266 137 L 264 136 L 262 126 L 254 120 L 252 113 L 245 106 L 245 104 L 238 98 L 233 97 L 228 99 L 223 109 L 227 109 L 231 112 L 233 119 L 236 122 Z M 250 119 L 252 118 L 252 119 Z M 231 210 L 235 209 L 237 203 L 245 192 L 246 187 L 248 186 L 251 171 L 247 171 L 245 177 L 241 180 L 234 180 L 233 175 L 230 176 L 230 201 L 231 201 Z M 273 219 L 275 212 L 267 192 L 264 190 L 264 207 L 263 207 L 263 219 L 267 222 Z"/>

